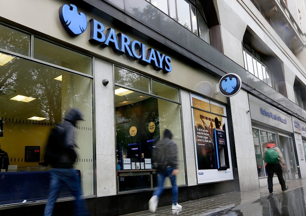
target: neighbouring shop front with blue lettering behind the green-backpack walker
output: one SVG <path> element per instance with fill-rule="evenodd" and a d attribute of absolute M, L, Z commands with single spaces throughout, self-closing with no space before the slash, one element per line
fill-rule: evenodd
<path fill-rule="evenodd" d="M 248 97 L 260 186 L 267 185 L 267 169 L 263 160 L 263 148 L 269 140 L 275 140 L 276 146 L 282 151 L 286 162 L 285 179 L 297 179 L 298 170 L 292 140 L 291 116 L 253 95 L 249 94 Z M 277 178 L 275 179 L 277 180 Z"/>

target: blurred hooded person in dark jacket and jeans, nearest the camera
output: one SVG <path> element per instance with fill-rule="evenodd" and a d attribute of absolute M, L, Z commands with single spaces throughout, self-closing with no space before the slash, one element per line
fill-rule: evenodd
<path fill-rule="evenodd" d="M 50 169 L 50 188 L 47 204 L 45 206 L 44 216 L 53 214 L 54 203 L 58 198 L 58 194 L 62 186 L 67 186 L 75 197 L 75 214 L 74 215 L 90 215 L 84 199 L 81 199 L 81 181 L 78 171 L 73 168 L 76 160 L 76 143 L 75 126 L 76 121 L 83 120 L 80 110 L 72 108 L 65 121 L 61 124 L 64 130 L 62 136 L 62 146 L 58 148 L 56 160 L 52 161 Z M 50 138 L 49 138 L 50 139 Z M 52 154 L 50 154 L 52 155 Z"/>

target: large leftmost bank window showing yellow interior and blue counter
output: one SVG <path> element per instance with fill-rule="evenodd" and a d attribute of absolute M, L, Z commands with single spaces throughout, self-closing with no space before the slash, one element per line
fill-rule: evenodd
<path fill-rule="evenodd" d="M 17 30 L 8 35 L 15 34 L 25 35 Z M 0 39 L 2 36 L 0 31 Z M 26 47 L 26 38 L 17 39 L 18 43 L 10 40 L 11 46 Z M 54 53 L 61 50 L 54 45 Z M 91 58 L 84 59 L 91 64 Z M 50 130 L 64 120 L 71 107 L 80 109 L 85 119 L 76 125 L 79 148 L 74 165 L 80 173 L 83 195 L 94 195 L 92 77 L 24 58 L 19 52 L 1 51 L 0 62 L 0 145 L 9 157 L 7 170 L 0 172 L 0 206 L 47 199 L 50 167 L 44 162 L 45 144 Z M 67 197 L 73 196 L 65 189 L 59 199 Z"/>

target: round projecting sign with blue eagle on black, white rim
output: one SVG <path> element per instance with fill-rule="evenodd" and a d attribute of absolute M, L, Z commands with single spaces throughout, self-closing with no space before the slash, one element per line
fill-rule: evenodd
<path fill-rule="evenodd" d="M 235 73 L 228 73 L 219 81 L 220 93 L 226 97 L 236 95 L 241 89 L 241 78 Z"/>

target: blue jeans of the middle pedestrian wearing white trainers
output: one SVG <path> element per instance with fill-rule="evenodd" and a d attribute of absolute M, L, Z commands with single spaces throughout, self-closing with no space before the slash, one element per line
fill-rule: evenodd
<path fill-rule="evenodd" d="M 176 184 L 176 176 L 171 174 L 173 170 L 174 168 L 170 166 L 165 170 L 157 171 L 157 189 L 153 192 L 153 196 L 156 195 L 159 199 L 159 197 L 162 195 L 162 192 L 164 191 L 165 178 L 169 177 L 172 184 L 172 204 L 176 205 L 178 188 Z"/>

